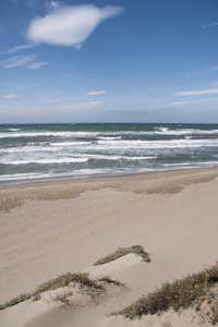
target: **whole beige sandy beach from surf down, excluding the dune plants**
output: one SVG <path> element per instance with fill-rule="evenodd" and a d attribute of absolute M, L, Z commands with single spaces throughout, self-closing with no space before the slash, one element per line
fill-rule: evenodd
<path fill-rule="evenodd" d="M 0 187 L 0 303 L 68 271 L 109 275 L 126 287 L 108 288 L 99 299 L 74 290 L 77 304 L 68 310 L 51 294 L 29 300 L 1 311 L 0 326 L 211 326 L 193 320 L 192 310 L 140 322 L 107 314 L 216 263 L 217 198 L 218 168 Z M 131 254 L 93 267 L 135 244 L 149 264 Z"/>

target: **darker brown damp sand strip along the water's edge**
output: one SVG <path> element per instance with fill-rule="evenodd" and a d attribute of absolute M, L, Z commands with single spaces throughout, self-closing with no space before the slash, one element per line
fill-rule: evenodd
<path fill-rule="evenodd" d="M 211 167 L 4 185 L 0 187 L 0 213 L 22 206 L 25 201 L 70 199 L 107 189 L 135 194 L 177 194 L 186 185 L 217 177 L 218 167 Z"/>

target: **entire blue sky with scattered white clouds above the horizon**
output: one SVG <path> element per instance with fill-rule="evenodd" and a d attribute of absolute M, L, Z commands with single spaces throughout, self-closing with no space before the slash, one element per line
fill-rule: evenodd
<path fill-rule="evenodd" d="M 0 0 L 0 123 L 218 123 L 217 0 Z"/>

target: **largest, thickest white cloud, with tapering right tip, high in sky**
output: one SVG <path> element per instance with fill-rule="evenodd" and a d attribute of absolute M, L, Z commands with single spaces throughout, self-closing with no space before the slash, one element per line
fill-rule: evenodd
<path fill-rule="evenodd" d="M 73 46 L 81 44 L 105 20 L 123 12 L 120 7 L 99 9 L 92 4 L 59 8 L 45 17 L 35 19 L 28 26 L 27 37 L 34 44 Z"/>

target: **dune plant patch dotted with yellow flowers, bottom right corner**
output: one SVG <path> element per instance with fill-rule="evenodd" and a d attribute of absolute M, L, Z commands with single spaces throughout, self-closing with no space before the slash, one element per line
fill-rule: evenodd
<path fill-rule="evenodd" d="M 112 315 L 136 319 L 169 308 L 177 312 L 193 306 L 196 311 L 201 311 L 203 304 L 208 305 L 210 323 L 213 325 L 218 323 L 218 263 L 197 274 L 187 275 L 183 279 L 166 282 L 159 289 Z"/>

